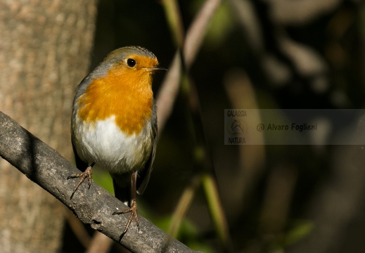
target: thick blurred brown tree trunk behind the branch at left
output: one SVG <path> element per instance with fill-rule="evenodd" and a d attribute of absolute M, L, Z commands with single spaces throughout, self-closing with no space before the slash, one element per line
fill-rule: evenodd
<path fill-rule="evenodd" d="M 95 1 L 0 2 L 0 110 L 69 159 L 72 97 L 89 65 L 95 16 Z M 0 160 L 1 252 L 56 252 L 63 211 Z"/>

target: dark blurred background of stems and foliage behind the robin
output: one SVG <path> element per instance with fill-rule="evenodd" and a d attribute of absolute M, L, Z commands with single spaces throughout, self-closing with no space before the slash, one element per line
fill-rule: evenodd
<path fill-rule="evenodd" d="M 181 78 L 168 72 L 154 77 L 156 99 L 164 85 L 178 82 L 179 88 L 176 98 L 171 94 L 171 114 L 159 125 L 155 166 L 138 197 L 139 213 L 202 252 L 363 252 L 363 146 L 224 145 L 224 109 L 364 108 L 362 1 L 101 0 L 91 11 L 92 39 L 79 42 L 90 48 L 82 55 L 89 63 L 68 89 L 122 46 L 146 47 L 174 70 L 177 49 L 184 63 L 184 37 L 202 10 L 211 18 L 200 30 L 203 41 L 193 60 L 182 64 Z M 65 105 L 72 98 L 68 93 Z M 323 119 L 331 135 L 331 119 Z M 364 127 L 357 115 L 346 138 L 364 139 Z M 308 138 L 324 143 L 321 136 Z M 65 146 L 72 161 L 70 143 Z M 108 174 L 94 171 L 93 179 L 113 193 Z M 77 221 L 66 216 L 58 252 L 83 252 L 72 225 Z"/>

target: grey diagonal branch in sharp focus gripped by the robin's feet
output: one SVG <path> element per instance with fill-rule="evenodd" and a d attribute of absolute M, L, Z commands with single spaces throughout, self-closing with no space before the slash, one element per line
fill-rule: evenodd
<path fill-rule="evenodd" d="M 75 181 L 66 178 L 78 170 L 56 150 L 2 112 L 0 112 L 0 156 L 63 202 L 82 222 L 90 224 L 91 228 L 97 229 L 115 241 L 120 240 L 128 216 L 112 215 L 112 213 L 117 208 L 127 207 L 96 183 L 92 183 L 89 189 L 87 183 L 83 183 L 70 200 Z M 141 215 L 139 222 L 140 231 L 132 225 L 120 241 L 132 252 L 193 252 Z"/>

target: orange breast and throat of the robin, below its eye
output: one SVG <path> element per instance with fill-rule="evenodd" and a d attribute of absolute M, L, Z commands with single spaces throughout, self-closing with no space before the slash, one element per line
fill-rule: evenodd
<path fill-rule="evenodd" d="M 139 134 L 153 108 L 151 73 L 116 65 L 105 77 L 94 79 L 80 96 L 78 116 L 96 122 L 115 116 L 124 134 Z"/>

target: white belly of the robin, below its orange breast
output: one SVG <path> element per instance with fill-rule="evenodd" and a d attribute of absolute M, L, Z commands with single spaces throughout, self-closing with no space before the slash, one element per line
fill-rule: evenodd
<path fill-rule="evenodd" d="M 76 118 L 73 138 L 77 154 L 82 160 L 89 164 L 96 162 L 98 167 L 110 173 L 126 173 L 143 168 L 152 148 L 150 122 L 147 122 L 147 127 L 141 133 L 127 135 L 115 125 L 114 116 L 94 123 L 84 123 Z"/>

